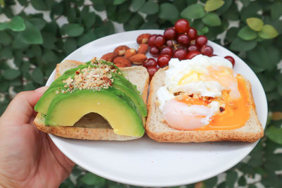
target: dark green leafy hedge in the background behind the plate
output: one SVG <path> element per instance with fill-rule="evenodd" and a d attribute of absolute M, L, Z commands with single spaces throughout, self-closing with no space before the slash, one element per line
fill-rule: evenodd
<path fill-rule="evenodd" d="M 14 5 L 21 10 L 15 14 Z M 35 8 L 37 13 L 25 13 Z M 94 9 L 93 9 L 94 8 Z M 95 10 L 95 11 L 94 11 Z M 106 11 L 102 20 L 101 11 Z M 44 14 L 45 15 L 44 15 Z M 282 187 L 281 0 L 0 0 L 0 113 L 15 92 L 42 86 L 56 63 L 78 47 L 124 30 L 164 29 L 186 18 L 200 34 L 231 49 L 255 71 L 269 104 L 266 136 L 247 158 L 197 187 Z M 67 20 L 59 25 L 59 20 Z M 219 36 L 221 36 L 219 38 Z M 252 178 L 255 177 L 255 180 Z M 61 187 L 125 187 L 78 166 Z M 187 185 L 186 187 L 194 187 Z M 131 186 L 130 186 L 131 187 Z"/>

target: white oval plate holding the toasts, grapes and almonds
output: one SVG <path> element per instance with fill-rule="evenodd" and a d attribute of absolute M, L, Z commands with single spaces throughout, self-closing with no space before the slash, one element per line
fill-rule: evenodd
<path fill-rule="evenodd" d="M 162 34 L 163 30 L 137 30 L 103 37 L 80 47 L 66 59 L 90 61 L 119 45 L 137 49 L 136 38 L 142 33 Z M 262 84 L 255 73 L 231 51 L 209 42 L 214 54 L 233 56 L 234 70 L 247 77 L 257 106 L 259 121 L 266 125 L 267 104 Z M 54 81 L 51 74 L 47 85 Z M 240 117 L 238 117 L 240 118 Z M 168 187 L 190 184 L 219 175 L 240 162 L 255 143 L 158 143 L 147 136 L 127 142 L 84 141 L 50 135 L 58 148 L 73 162 L 91 173 L 109 180 L 145 187 Z"/>

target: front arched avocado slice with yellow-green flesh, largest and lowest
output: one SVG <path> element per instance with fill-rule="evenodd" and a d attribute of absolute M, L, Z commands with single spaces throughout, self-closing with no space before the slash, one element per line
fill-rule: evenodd
<path fill-rule="evenodd" d="M 119 97 L 121 94 L 111 87 L 101 91 L 76 90 L 55 96 L 45 125 L 73 126 L 83 115 L 94 112 L 102 115 L 116 134 L 141 137 L 145 132 L 142 119 L 124 98 Z"/>

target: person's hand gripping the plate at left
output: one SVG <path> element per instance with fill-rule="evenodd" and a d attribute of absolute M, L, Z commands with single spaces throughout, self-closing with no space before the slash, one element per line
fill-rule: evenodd
<path fill-rule="evenodd" d="M 33 125 L 46 90 L 20 92 L 0 117 L 0 187 L 59 187 L 74 163 Z"/>

